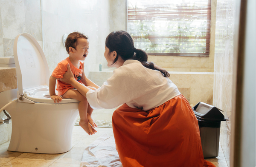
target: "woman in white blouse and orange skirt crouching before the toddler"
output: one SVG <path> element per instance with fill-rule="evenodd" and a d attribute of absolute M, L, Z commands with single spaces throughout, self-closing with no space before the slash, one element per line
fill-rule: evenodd
<path fill-rule="evenodd" d="M 115 108 L 112 116 L 116 150 L 124 167 L 215 167 L 204 161 L 198 121 L 169 73 L 147 62 L 126 31 L 105 42 L 108 66 L 116 67 L 102 87 L 87 79 L 79 84 L 70 70 L 64 82 L 82 93 L 94 109 Z"/>

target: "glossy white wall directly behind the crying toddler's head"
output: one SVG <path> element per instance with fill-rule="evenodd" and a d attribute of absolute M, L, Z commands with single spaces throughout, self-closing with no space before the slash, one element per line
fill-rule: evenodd
<path fill-rule="evenodd" d="M 44 53 L 50 74 L 58 62 L 68 57 L 62 44 L 64 34 L 80 31 L 89 37 L 89 55 L 84 61 L 86 74 L 107 68 L 105 38 L 110 33 L 109 1 L 42 0 Z M 103 10 L 104 9 L 104 10 Z"/>

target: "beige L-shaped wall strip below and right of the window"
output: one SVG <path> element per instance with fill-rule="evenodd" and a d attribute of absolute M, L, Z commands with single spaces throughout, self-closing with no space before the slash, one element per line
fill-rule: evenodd
<path fill-rule="evenodd" d="M 165 68 L 167 71 L 213 72 L 215 46 L 216 3 L 211 4 L 211 39 L 209 57 L 178 57 L 178 56 L 149 56 L 148 61 Z"/>

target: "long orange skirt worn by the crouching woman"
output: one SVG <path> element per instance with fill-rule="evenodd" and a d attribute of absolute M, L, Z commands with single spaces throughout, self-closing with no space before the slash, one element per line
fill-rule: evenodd
<path fill-rule="evenodd" d="M 183 95 L 148 111 L 124 104 L 112 122 L 123 167 L 215 167 L 204 160 L 198 121 Z"/>

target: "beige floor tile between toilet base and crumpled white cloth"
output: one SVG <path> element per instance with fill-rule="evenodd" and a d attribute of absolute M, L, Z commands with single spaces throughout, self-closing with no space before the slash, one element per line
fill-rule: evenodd
<path fill-rule="evenodd" d="M 73 147 L 55 162 L 64 164 L 80 164 L 85 147 Z"/>

